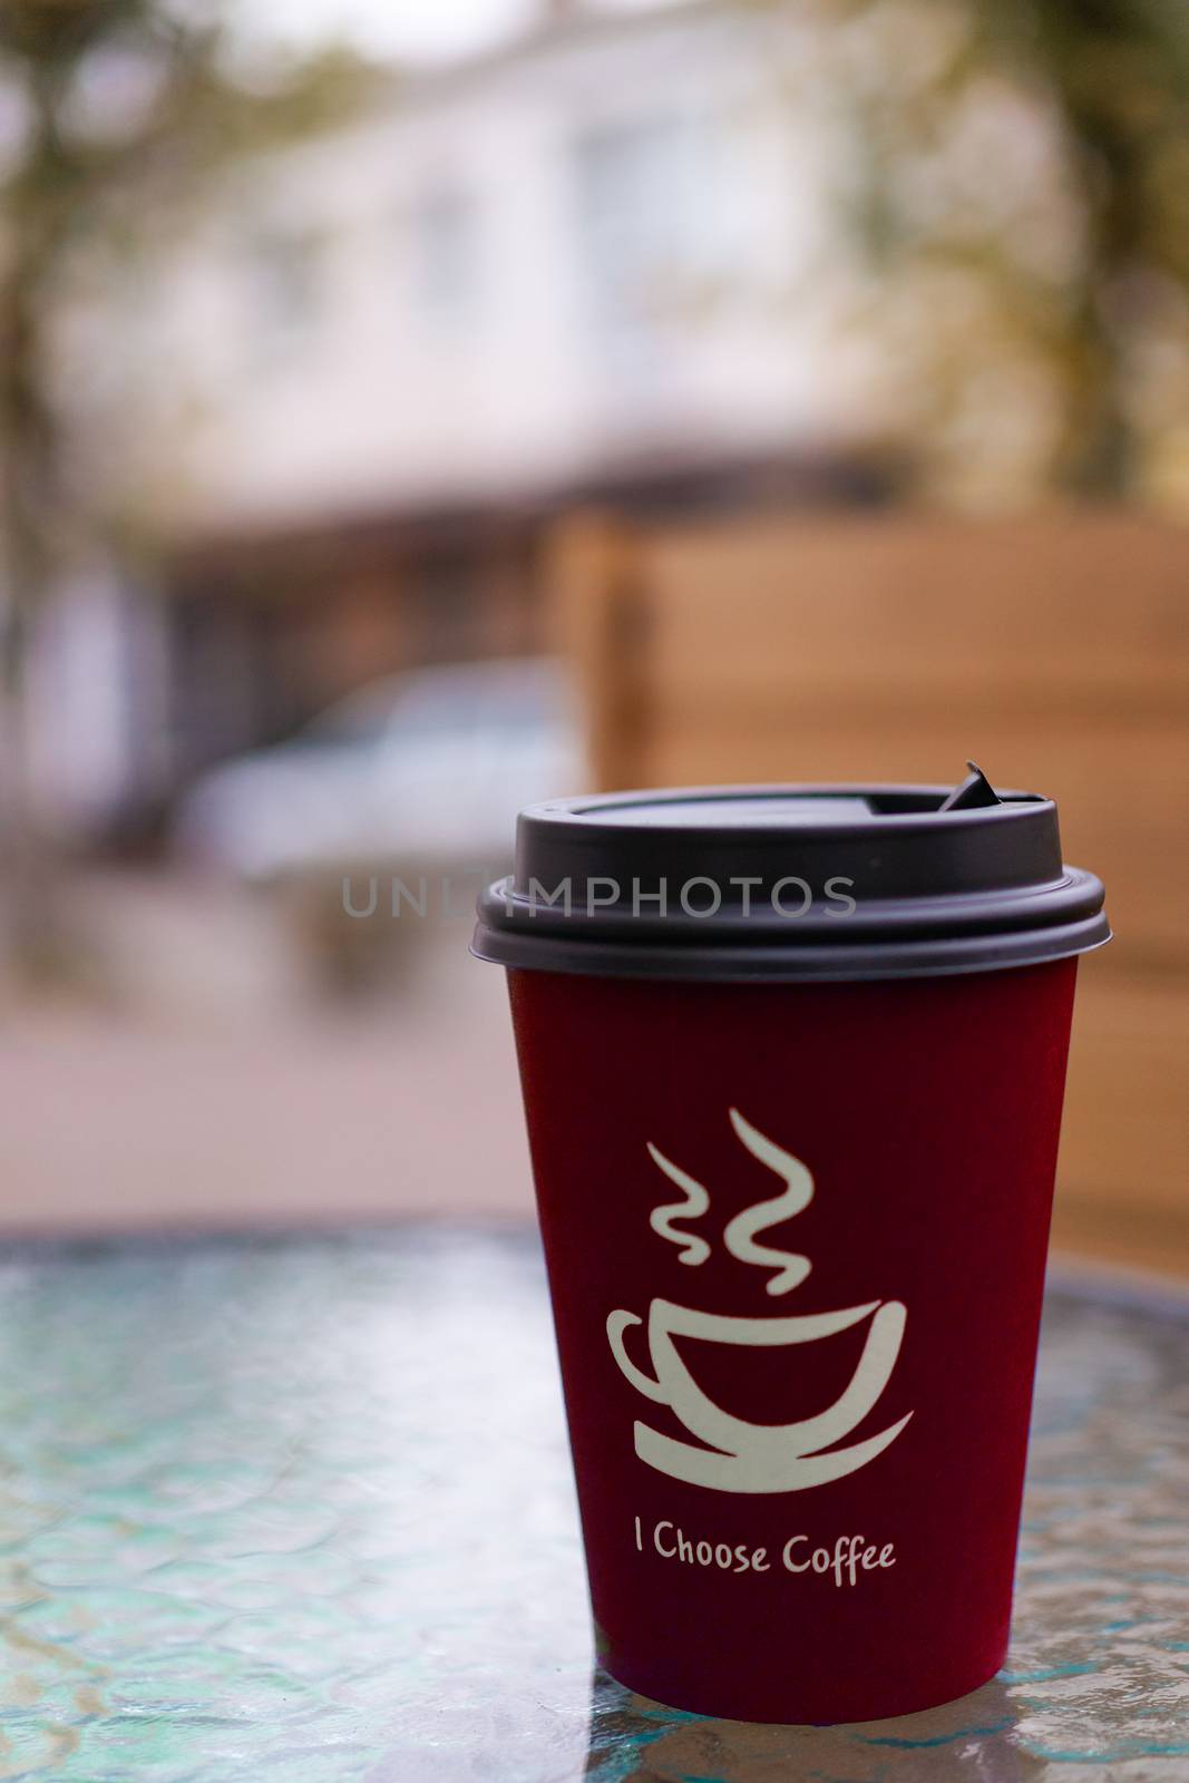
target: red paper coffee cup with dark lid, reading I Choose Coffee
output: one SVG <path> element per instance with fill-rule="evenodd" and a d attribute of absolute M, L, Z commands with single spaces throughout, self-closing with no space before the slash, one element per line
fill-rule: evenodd
<path fill-rule="evenodd" d="M 1102 904 L 1054 804 L 980 777 L 522 815 L 474 947 L 510 968 L 595 1635 L 629 1689 L 863 1721 L 1002 1664 Z"/>

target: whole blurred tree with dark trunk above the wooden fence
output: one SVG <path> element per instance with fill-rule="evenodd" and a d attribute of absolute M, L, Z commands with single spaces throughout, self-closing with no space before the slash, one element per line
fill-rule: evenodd
<path fill-rule="evenodd" d="M 996 428 L 1011 455 L 1032 407 L 1021 489 L 1184 503 L 1189 7 L 825 11 L 859 143 L 868 319 L 902 355 L 927 478 L 961 483 L 957 460 L 993 453 Z"/>

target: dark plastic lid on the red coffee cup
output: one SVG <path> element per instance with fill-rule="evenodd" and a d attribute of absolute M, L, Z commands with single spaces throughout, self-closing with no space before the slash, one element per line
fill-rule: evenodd
<path fill-rule="evenodd" d="M 601 977 L 799 981 L 989 972 L 1111 940 L 1057 808 L 957 786 L 695 786 L 551 799 L 472 952 Z"/>

